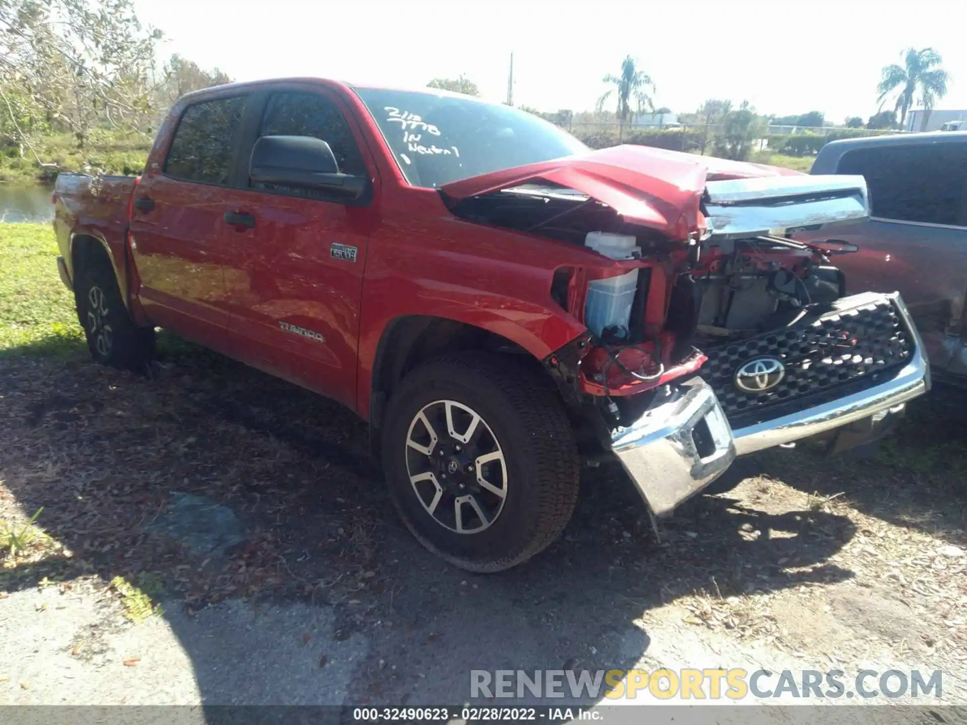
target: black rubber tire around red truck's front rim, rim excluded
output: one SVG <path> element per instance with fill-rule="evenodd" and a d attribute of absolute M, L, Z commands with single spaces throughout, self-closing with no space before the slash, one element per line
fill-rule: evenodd
<path fill-rule="evenodd" d="M 407 473 L 410 424 L 438 400 L 476 411 L 504 450 L 503 508 L 477 534 L 439 524 Z M 394 391 L 382 428 L 383 465 L 396 510 L 427 549 L 451 564 L 477 572 L 521 564 L 560 536 L 571 519 L 580 474 L 571 423 L 550 381 L 522 362 L 478 352 L 426 362 Z"/>

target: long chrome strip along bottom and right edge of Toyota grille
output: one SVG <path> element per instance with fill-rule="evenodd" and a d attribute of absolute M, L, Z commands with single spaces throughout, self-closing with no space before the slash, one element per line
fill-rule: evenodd
<path fill-rule="evenodd" d="M 799 413 L 739 428 L 734 431 L 735 447 L 739 455 L 792 443 L 838 428 L 854 420 L 863 420 L 930 390 L 930 367 L 923 356 L 923 340 L 910 318 L 910 312 L 899 294 L 894 292 L 884 297 L 894 301 L 907 331 L 913 337 L 914 351 L 910 362 L 907 362 L 891 380 L 873 388 L 846 395 Z"/>

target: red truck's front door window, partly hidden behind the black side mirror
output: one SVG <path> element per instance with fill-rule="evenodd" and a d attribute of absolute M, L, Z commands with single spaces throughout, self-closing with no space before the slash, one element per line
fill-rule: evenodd
<path fill-rule="evenodd" d="M 329 144 L 339 171 L 366 176 L 366 164 L 336 103 L 317 93 L 293 91 L 269 97 L 259 136 L 313 136 Z"/>

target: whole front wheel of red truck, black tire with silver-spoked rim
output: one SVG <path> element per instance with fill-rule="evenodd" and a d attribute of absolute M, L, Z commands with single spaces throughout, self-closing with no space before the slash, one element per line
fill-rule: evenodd
<path fill-rule="evenodd" d="M 550 381 L 507 356 L 427 362 L 394 391 L 382 456 L 406 527 L 470 571 L 527 561 L 571 519 L 580 465 Z"/>

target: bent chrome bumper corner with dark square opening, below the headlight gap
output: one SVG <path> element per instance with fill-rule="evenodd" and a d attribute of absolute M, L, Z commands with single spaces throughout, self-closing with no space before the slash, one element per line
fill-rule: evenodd
<path fill-rule="evenodd" d="M 710 446 L 702 455 L 696 427 Z M 736 456 L 732 431 L 718 397 L 702 380 L 664 386 L 644 415 L 612 435 L 611 449 L 656 516 L 667 516 L 731 465 Z"/>

